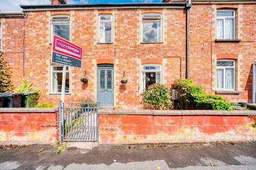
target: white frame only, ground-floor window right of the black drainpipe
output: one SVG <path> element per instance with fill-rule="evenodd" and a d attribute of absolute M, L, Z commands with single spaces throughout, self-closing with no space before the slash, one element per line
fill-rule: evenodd
<path fill-rule="evenodd" d="M 217 66 L 216 69 L 216 73 L 218 69 L 222 69 L 223 70 L 223 88 L 218 88 L 218 82 L 217 82 L 217 90 L 235 90 L 235 82 L 236 82 L 236 61 L 235 60 L 231 60 L 231 59 L 221 59 L 221 60 L 217 60 L 217 62 L 233 62 L 233 66 Z M 217 63 L 216 63 L 217 64 Z M 226 69 L 233 69 L 234 70 L 234 79 L 233 79 L 233 84 L 234 84 L 234 88 L 233 89 L 226 89 Z M 218 81 L 218 79 L 217 79 Z"/>

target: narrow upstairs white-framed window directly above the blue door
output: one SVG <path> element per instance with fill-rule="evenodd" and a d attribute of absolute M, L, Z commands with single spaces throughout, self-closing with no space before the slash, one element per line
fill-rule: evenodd
<path fill-rule="evenodd" d="M 99 43 L 112 43 L 111 15 L 99 15 Z"/>

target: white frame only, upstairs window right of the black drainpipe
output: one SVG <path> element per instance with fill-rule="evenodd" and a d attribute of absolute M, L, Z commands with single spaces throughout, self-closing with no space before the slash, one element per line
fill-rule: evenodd
<path fill-rule="evenodd" d="M 233 16 L 217 16 L 218 12 L 233 12 Z M 217 10 L 216 12 L 216 27 L 217 27 L 217 33 L 216 33 L 216 37 L 218 37 L 218 26 L 217 26 L 217 21 L 218 20 L 223 20 L 223 38 L 217 38 L 217 39 L 227 39 L 225 38 L 226 36 L 226 19 L 233 19 L 234 22 L 234 28 L 233 28 L 233 37 L 232 39 L 235 39 L 235 35 L 236 35 L 236 11 L 235 10 Z"/>

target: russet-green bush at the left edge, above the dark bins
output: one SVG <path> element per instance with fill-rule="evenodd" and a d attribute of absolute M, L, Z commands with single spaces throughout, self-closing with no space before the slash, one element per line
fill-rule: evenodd
<path fill-rule="evenodd" d="M 9 64 L 0 56 L 0 93 L 11 92 L 13 90 L 11 75 L 12 71 Z"/>

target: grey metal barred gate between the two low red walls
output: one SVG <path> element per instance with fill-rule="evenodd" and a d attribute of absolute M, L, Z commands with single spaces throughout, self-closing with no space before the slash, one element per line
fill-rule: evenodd
<path fill-rule="evenodd" d="M 59 102 L 60 141 L 98 141 L 99 103 Z"/>

